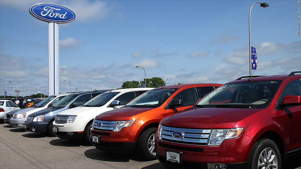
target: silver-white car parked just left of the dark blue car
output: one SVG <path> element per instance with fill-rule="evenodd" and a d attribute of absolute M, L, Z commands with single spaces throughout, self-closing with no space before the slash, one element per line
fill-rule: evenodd
<path fill-rule="evenodd" d="M 14 113 L 13 117 L 11 118 L 11 125 L 13 127 L 23 127 L 23 123 L 26 121 L 28 115 L 37 112 L 42 109 L 46 109 L 47 107 L 51 107 L 59 100 L 63 99 L 68 94 L 55 94 L 47 97 L 40 103 L 36 104 L 34 107 L 29 107 L 26 109 L 19 110 Z"/>

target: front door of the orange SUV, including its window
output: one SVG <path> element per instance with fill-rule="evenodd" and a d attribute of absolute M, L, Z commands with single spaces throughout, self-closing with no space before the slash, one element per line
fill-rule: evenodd
<path fill-rule="evenodd" d="M 195 87 L 187 88 L 180 91 L 172 99 L 181 99 L 183 104 L 181 106 L 169 108 L 168 109 L 169 115 L 193 106 L 198 98 L 199 95 Z"/>

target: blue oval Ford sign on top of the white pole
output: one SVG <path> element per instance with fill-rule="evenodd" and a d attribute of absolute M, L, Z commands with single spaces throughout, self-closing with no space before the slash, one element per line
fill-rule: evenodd
<path fill-rule="evenodd" d="M 68 23 L 75 20 L 76 15 L 70 9 L 56 4 L 40 3 L 29 8 L 29 13 L 42 21 Z"/>

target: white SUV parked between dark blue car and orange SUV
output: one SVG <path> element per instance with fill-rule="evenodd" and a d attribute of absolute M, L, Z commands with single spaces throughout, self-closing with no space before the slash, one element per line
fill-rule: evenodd
<path fill-rule="evenodd" d="M 92 143 L 90 129 L 97 115 L 120 108 L 151 89 L 153 88 L 129 88 L 108 91 L 94 97 L 81 107 L 59 112 L 53 122 L 54 134 L 61 139 L 79 140 L 84 138 L 88 143 Z"/>

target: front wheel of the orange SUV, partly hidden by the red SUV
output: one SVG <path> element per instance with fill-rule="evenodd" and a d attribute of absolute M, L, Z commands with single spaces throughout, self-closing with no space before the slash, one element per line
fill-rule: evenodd
<path fill-rule="evenodd" d="M 157 159 L 155 153 L 155 139 L 158 128 L 149 128 L 144 131 L 137 141 L 138 150 L 141 156 L 148 160 Z"/>

